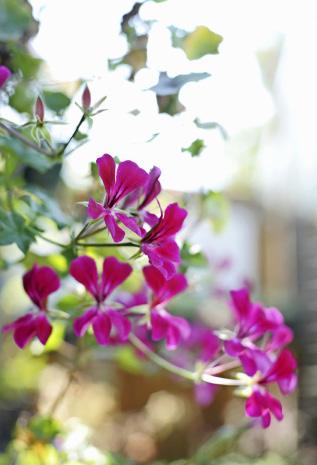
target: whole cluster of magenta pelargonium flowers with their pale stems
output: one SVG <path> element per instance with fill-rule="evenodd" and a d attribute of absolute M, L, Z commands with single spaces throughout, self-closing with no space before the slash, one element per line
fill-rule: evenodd
<path fill-rule="evenodd" d="M 69 274 L 84 286 L 91 302 L 72 321 L 75 336 L 92 333 L 101 346 L 137 341 L 136 348 L 150 357 L 157 343 L 164 341 L 168 353 L 177 348 L 181 348 L 181 353 L 174 352 L 170 361 L 155 353 L 153 361 L 195 381 L 199 403 L 210 403 L 217 385 L 236 386 L 237 392 L 247 397 L 248 417 L 260 419 L 263 427 L 269 426 L 271 414 L 281 420 L 282 405 L 269 386 L 275 383 L 287 395 L 297 382 L 296 361 L 285 348 L 293 334 L 282 314 L 276 308 L 253 303 L 246 288 L 231 292 L 234 317 L 231 330 L 213 331 L 172 314 L 169 302 L 188 287 L 186 277 L 178 272 L 180 250 L 175 239 L 187 216 L 186 210 L 177 203 L 171 203 L 165 211 L 158 203 L 159 216 L 147 210 L 161 191 L 157 167 L 147 173 L 132 161 L 116 165 L 108 154 L 97 159 L 97 167 L 105 199 L 102 203 L 89 200 L 91 230 L 87 233 L 86 225 L 78 238 L 83 241 L 99 232 L 100 228 L 94 229 L 96 223 L 103 225 L 102 229 L 108 231 L 118 247 L 126 234 L 132 234 L 135 239 L 121 245 L 137 247 L 136 256 L 146 256 L 149 263 L 142 269 L 141 291 L 118 295 L 119 286 L 133 272 L 131 264 L 107 256 L 98 273 L 98 263 L 92 257 L 79 255 L 73 259 Z M 35 264 L 24 274 L 23 285 L 35 309 L 5 325 L 2 331 L 12 331 L 20 348 L 34 337 L 45 345 L 53 328 L 51 315 L 54 316 L 49 310 L 48 297 L 60 288 L 59 277 L 50 267 Z M 218 376 L 228 372 L 230 378 Z"/>

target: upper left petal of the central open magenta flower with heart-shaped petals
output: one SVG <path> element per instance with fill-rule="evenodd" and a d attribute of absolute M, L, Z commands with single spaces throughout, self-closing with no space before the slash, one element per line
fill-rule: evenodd
<path fill-rule="evenodd" d="M 95 260 L 87 255 L 75 258 L 70 265 L 69 272 L 95 299 L 98 299 L 98 272 Z"/>

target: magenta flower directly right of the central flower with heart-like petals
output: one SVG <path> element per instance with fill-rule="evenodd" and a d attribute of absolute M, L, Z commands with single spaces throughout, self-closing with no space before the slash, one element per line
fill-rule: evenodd
<path fill-rule="evenodd" d="M 176 274 L 167 280 L 153 266 L 143 268 L 143 274 L 147 285 L 153 291 L 150 302 L 152 339 L 153 341 L 165 339 L 168 350 L 176 349 L 182 339 L 189 337 L 190 326 L 184 318 L 171 315 L 164 305 L 186 289 L 186 278 L 182 274 Z"/>

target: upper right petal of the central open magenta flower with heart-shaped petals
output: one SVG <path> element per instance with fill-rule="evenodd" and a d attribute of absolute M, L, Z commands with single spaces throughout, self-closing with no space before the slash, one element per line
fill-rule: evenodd
<path fill-rule="evenodd" d="M 132 272 L 132 267 L 128 263 L 123 263 L 115 257 L 107 257 L 103 262 L 101 278 L 102 299 L 111 294 L 112 291 L 122 284 Z"/>

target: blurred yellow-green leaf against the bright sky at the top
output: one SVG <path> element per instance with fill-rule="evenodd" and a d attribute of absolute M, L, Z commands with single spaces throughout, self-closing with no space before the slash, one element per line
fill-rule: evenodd
<path fill-rule="evenodd" d="M 217 54 L 223 37 L 206 26 L 198 26 L 184 39 L 183 49 L 190 60 L 196 60 L 207 54 Z"/>

